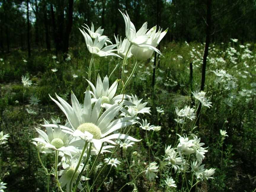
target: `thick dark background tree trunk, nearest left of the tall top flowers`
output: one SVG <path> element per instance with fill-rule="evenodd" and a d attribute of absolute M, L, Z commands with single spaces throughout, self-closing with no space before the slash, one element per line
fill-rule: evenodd
<path fill-rule="evenodd" d="M 73 0 L 69 0 L 68 3 L 68 24 L 66 27 L 66 32 L 65 32 L 65 39 L 64 41 L 64 49 L 63 52 L 68 52 L 68 47 L 69 47 L 69 35 L 71 33 L 72 25 L 73 25 Z"/>

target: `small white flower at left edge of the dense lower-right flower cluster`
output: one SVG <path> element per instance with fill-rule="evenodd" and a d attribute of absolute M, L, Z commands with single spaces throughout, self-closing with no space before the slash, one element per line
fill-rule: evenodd
<path fill-rule="evenodd" d="M 168 146 L 165 149 L 165 154 L 168 156 L 165 158 L 165 161 L 169 161 L 169 164 L 172 165 L 174 168 L 175 172 L 180 169 L 179 165 L 183 163 L 183 160 L 181 157 L 179 157 L 178 153 L 175 151 L 174 148 L 171 148 L 171 145 Z"/>

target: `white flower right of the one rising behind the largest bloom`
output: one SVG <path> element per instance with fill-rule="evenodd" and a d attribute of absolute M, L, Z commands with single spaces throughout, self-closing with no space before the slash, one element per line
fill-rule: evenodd
<path fill-rule="evenodd" d="M 150 107 L 145 107 L 148 102 L 141 103 L 142 99 L 138 100 L 136 95 L 132 95 L 132 97 L 129 97 L 129 101 L 134 104 L 134 106 L 127 106 L 128 109 L 126 110 L 125 108 L 122 108 L 122 112 L 124 116 L 130 116 L 130 117 L 135 117 L 139 113 L 148 113 L 150 114 Z"/>

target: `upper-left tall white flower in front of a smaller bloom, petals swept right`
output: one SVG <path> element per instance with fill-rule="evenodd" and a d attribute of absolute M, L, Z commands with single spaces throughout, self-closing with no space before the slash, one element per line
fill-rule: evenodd
<path fill-rule="evenodd" d="M 116 53 L 112 53 L 113 51 L 117 51 L 117 49 L 114 49 L 116 47 L 116 44 L 109 45 L 109 46 L 106 46 L 103 48 L 104 44 L 106 43 L 106 41 L 108 39 L 107 36 L 100 36 L 100 37 L 97 36 L 95 38 L 94 42 L 92 42 L 92 38 L 84 30 L 82 31 L 80 29 L 80 31 L 84 36 L 87 49 L 89 50 L 89 52 L 91 54 L 95 54 L 100 57 L 105 57 L 105 56 L 109 56 L 109 55 L 120 57 Z"/>

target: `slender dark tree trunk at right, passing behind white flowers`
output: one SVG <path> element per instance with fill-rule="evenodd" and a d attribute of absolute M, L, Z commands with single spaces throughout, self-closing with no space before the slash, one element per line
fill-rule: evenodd
<path fill-rule="evenodd" d="M 211 5 L 212 5 L 212 0 L 207 0 L 206 39 L 205 39 L 204 57 L 203 57 L 203 65 L 202 65 L 202 78 L 201 78 L 201 89 L 200 89 L 201 91 L 204 90 L 207 56 L 208 56 L 209 44 L 210 44 L 210 34 L 211 34 L 211 25 L 212 25 L 212 22 L 211 22 Z M 196 121 L 196 124 L 197 124 L 198 127 L 199 127 L 201 107 L 202 107 L 202 105 L 200 103 L 198 111 L 197 111 L 198 120 Z"/>

